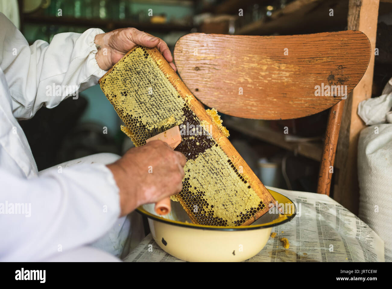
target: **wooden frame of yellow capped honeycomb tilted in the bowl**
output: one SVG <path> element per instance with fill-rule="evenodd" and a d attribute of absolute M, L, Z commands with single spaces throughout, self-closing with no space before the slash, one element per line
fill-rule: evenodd
<path fill-rule="evenodd" d="M 203 108 L 157 48 L 135 46 L 99 84 L 135 146 L 145 144 L 145 130 L 156 123 L 186 129 L 176 148 L 187 157 L 183 188 L 171 199 L 181 203 L 192 222 L 250 225 L 275 204 L 227 139 L 228 131 L 216 110 Z M 200 126 L 201 135 L 189 134 L 192 125 Z"/>

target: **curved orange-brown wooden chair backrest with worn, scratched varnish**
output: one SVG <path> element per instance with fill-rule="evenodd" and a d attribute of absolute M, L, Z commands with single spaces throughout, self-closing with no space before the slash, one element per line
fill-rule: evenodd
<path fill-rule="evenodd" d="M 253 119 L 292 119 L 330 108 L 342 98 L 316 96 L 315 86 L 343 85 L 349 93 L 369 59 L 370 42 L 359 31 L 289 36 L 191 33 L 174 48 L 181 79 L 203 104 Z"/>

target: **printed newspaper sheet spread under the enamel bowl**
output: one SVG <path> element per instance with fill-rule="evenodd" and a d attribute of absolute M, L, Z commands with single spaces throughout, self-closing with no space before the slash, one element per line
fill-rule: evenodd
<path fill-rule="evenodd" d="M 272 228 L 275 238 L 245 262 L 384 262 L 384 241 L 363 221 L 323 194 L 270 188 L 291 199 L 297 216 Z M 280 238 L 287 238 L 284 249 Z M 183 262 L 147 235 L 124 262 Z"/>

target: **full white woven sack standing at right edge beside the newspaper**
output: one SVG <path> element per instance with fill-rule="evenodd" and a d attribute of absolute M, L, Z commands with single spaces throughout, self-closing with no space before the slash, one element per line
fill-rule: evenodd
<path fill-rule="evenodd" d="M 385 261 L 392 262 L 392 124 L 361 131 L 358 181 L 359 218 L 384 240 Z"/>

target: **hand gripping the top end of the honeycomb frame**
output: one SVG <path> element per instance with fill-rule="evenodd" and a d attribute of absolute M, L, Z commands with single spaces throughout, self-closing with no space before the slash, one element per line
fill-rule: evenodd
<path fill-rule="evenodd" d="M 125 53 L 136 45 L 149 48 L 156 46 L 174 71 L 177 70 L 166 42 L 136 28 L 121 28 L 108 33 L 98 34 L 94 42 L 98 48 L 95 59 L 103 70 L 109 70 Z"/>

